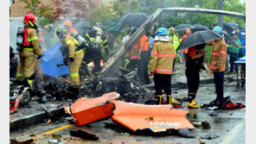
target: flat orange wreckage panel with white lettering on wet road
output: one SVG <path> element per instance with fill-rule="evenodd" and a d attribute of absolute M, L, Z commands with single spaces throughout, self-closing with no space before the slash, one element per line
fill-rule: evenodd
<path fill-rule="evenodd" d="M 150 128 L 153 132 L 170 128 L 195 128 L 185 117 L 189 111 L 172 109 L 171 105 L 144 105 L 112 101 L 115 104 L 112 121 L 133 131 Z"/>

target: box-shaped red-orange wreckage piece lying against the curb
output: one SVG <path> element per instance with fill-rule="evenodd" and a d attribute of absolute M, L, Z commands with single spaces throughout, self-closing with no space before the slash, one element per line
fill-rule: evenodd
<path fill-rule="evenodd" d="M 77 126 L 97 121 L 101 118 L 112 116 L 112 100 L 117 99 L 117 92 L 106 93 L 102 97 L 79 98 L 71 105 L 71 112 Z"/>

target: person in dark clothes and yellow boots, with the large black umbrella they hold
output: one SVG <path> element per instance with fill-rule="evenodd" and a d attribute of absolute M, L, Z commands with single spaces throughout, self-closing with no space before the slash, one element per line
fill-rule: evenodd
<path fill-rule="evenodd" d="M 208 69 L 202 65 L 205 55 L 204 47 L 206 46 L 206 43 L 219 39 L 221 39 L 220 34 L 216 34 L 212 30 L 203 30 L 189 35 L 178 47 L 180 50 L 189 47 L 189 55 L 186 61 L 186 77 L 189 88 L 189 108 L 200 108 L 201 106 L 200 103 L 195 103 L 195 96 L 199 88 L 200 70 L 202 69 L 208 72 Z M 208 75 L 210 76 L 209 72 Z"/>

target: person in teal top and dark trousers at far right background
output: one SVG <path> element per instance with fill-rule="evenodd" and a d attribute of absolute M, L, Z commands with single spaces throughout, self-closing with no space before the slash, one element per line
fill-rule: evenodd
<path fill-rule="evenodd" d="M 234 71 L 237 72 L 237 66 L 234 66 L 234 61 L 239 58 L 239 50 L 240 50 L 240 39 L 238 37 L 238 32 L 234 31 L 234 39 L 229 44 L 229 62 L 230 62 L 230 73 Z"/>

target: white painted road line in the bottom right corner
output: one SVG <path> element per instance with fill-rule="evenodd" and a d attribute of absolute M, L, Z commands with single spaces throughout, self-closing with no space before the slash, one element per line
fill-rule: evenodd
<path fill-rule="evenodd" d="M 244 128 L 245 125 L 246 125 L 246 116 L 244 116 L 242 120 L 232 129 L 232 131 L 228 133 L 228 135 L 223 139 L 223 141 L 221 141 L 221 144 L 231 143 L 236 137 L 236 135 L 239 134 L 240 130 Z"/>

